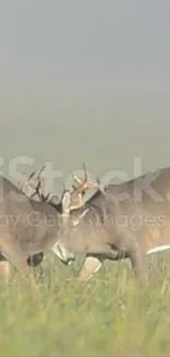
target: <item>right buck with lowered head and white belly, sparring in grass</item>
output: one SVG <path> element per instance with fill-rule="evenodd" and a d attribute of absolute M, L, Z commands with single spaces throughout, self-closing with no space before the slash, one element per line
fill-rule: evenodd
<path fill-rule="evenodd" d="M 84 189 L 82 182 L 75 193 Z M 102 190 L 98 186 L 77 210 L 69 210 L 70 201 L 67 192 L 69 230 L 59 236 L 56 254 L 65 264 L 70 255 L 71 261 L 86 255 L 77 279 L 91 279 L 105 259 L 128 259 L 139 285 L 148 285 L 147 256 L 170 249 L 170 167 L 105 185 Z"/>

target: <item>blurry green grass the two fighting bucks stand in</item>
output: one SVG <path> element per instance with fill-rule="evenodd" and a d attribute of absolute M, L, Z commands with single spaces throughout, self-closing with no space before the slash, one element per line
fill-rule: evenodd
<path fill-rule="evenodd" d="M 0 287 L 0 357 L 170 356 L 169 261 L 151 258 L 150 286 L 139 290 L 128 263 L 107 261 L 82 286 L 70 279 L 80 261 L 69 268 L 48 256 L 35 300 L 13 272 Z"/>

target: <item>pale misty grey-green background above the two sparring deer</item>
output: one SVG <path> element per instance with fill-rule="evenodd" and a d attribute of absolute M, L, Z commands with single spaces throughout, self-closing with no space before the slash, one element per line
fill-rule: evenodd
<path fill-rule="evenodd" d="M 1 171 L 170 166 L 169 19 L 169 0 L 1 0 Z"/>

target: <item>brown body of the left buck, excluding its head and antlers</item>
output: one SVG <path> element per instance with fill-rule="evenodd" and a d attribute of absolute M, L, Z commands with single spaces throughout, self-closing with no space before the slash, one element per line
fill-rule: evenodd
<path fill-rule="evenodd" d="M 47 202 L 29 199 L 11 181 L 0 177 L 0 252 L 25 275 L 27 256 L 53 250 L 60 214 Z"/>

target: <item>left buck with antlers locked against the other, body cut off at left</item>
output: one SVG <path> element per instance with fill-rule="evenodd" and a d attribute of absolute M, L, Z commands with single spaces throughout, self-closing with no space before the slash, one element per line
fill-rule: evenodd
<path fill-rule="evenodd" d="M 60 234 L 67 234 L 68 207 L 69 212 L 82 207 L 82 187 L 90 187 L 84 178 L 80 190 L 75 187 L 72 191 L 64 190 L 59 203 L 56 203 L 56 197 L 44 196 L 41 191 L 39 176 L 37 180 L 32 178 L 31 174 L 25 185 L 36 189 L 36 200 L 33 198 L 35 191 L 27 197 L 22 185 L 16 187 L 0 177 L 0 252 L 24 276 L 31 272 L 31 257 L 39 254 L 43 257 L 44 252 L 58 255 L 56 242 Z M 73 203 L 75 197 L 78 197 L 78 203 Z M 1 224 L 1 220 L 5 224 Z"/>

